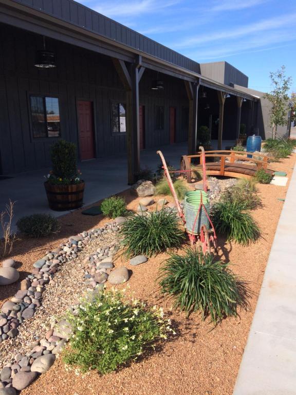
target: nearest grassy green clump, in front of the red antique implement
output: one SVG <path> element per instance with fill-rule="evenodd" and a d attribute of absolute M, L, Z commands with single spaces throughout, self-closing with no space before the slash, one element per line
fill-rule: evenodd
<path fill-rule="evenodd" d="M 244 286 L 229 270 L 228 263 L 214 261 L 210 254 L 188 248 L 184 256 L 172 254 L 160 267 L 161 292 L 174 300 L 174 306 L 200 311 L 213 322 L 225 316 L 237 316 L 244 305 Z"/>

